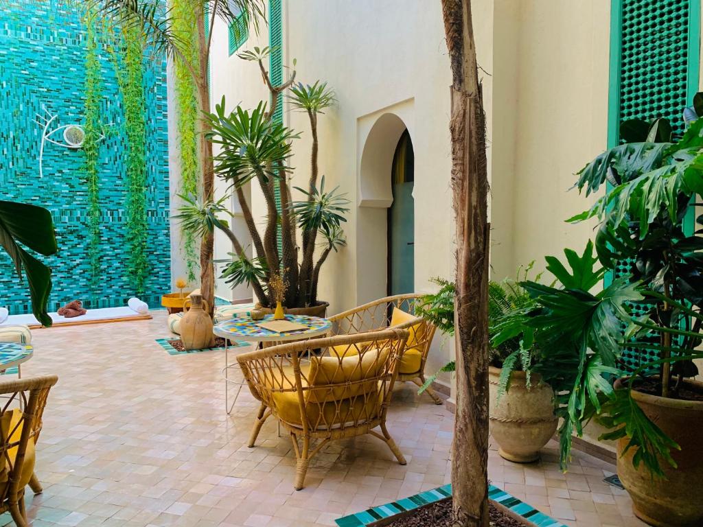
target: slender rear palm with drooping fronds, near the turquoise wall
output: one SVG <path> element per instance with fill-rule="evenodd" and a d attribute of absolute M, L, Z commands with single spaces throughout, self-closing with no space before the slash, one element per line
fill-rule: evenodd
<path fill-rule="evenodd" d="M 186 67 L 193 77 L 198 95 L 198 108 L 201 115 L 205 115 L 210 112 L 207 67 L 212 44 L 212 31 L 206 31 L 206 18 L 209 17 L 207 27 L 212 28 L 215 20 L 219 18 L 238 31 L 241 30 L 240 25 L 234 22 L 242 13 L 246 13 L 245 20 L 258 31 L 259 20 L 264 18 L 264 0 L 190 1 L 193 1 L 198 34 L 195 54 L 189 53 L 192 51 L 193 42 L 173 30 L 172 10 L 165 8 L 165 2 L 162 0 L 89 0 L 88 6 L 123 30 L 141 30 L 155 53 L 163 53 Z M 191 56 L 197 57 L 197 60 L 189 60 L 188 57 Z M 199 131 L 200 198 L 202 202 L 209 203 L 214 201 L 214 162 L 212 143 L 206 138 L 210 131 L 207 119 L 200 119 Z M 206 230 L 200 241 L 200 287 L 211 311 L 214 305 L 213 248 L 214 233 Z"/>

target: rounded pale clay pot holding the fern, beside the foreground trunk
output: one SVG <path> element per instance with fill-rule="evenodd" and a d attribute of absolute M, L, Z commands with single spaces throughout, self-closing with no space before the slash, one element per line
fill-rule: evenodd
<path fill-rule="evenodd" d="M 501 368 L 489 367 L 489 418 L 491 436 L 499 445 L 498 453 L 508 461 L 529 463 L 539 459 L 539 450 L 557 429 L 554 391 L 531 376 L 527 389 L 524 372 L 512 372 L 508 393 L 498 401 Z"/>

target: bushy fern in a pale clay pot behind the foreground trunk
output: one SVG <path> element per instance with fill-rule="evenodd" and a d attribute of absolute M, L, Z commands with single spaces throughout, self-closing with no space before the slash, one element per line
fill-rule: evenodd
<path fill-rule="evenodd" d="M 527 278 L 531 268 L 532 264 L 518 274 Z M 418 311 L 442 332 L 453 334 L 454 284 L 441 278 L 432 281 L 439 291 L 423 297 Z M 537 460 L 557 428 L 554 392 L 540 375 L 531 372 L 536 353 L 534 330 L 524 320 L 535 307 L 534 299 L 517 281 L 489 282 L 491 436 L 502 457 L 520 463 Z M 453 370 L 451 362 L 440 372 Z M 432 375 L 425 386 L 436 378 L 437 374 Z"/>

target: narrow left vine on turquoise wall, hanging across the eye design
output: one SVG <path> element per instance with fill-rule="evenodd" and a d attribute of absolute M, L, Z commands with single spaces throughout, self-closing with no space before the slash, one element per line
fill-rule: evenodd
<path fill-rule="evenodd" d="M 98 58 L 96 15 L 92 10 L 84 16 L 86 25 L 85 103 L 83 152 L 84 173 L 88 188 L 88 259 L 91 269 L 91 293 L 96 294 L 100 280 L 100 200 L 98 196 L 98 143 L 101 139 L 100 101 L 102 96 L 101 66 Z"/>

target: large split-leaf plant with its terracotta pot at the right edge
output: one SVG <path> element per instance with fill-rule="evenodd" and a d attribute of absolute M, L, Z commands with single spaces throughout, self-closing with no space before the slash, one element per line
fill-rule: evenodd
<path fill-rule="evenodd" d="M 597 258 L 569 258 L 555 287 L 522 284 L 539 304 L 527 322 L 538 330 L 534 371 L 560 394 L 562 466 L 572 434 L 598 416 L 618 440 L 634 512 L 672 527 L 703 523 L 703 384 L 691 379 L 703 357 L 703 238 L 688 229 L 703 197 L 703 94 L 684 115 L 678 141 L 666 119 L 621 124 L 624 143 L 576 182 L 587 195 L 611 183 L 571 219 L 598 218 Z M 610 285 L 591 292 L 605 273 Z"/>

